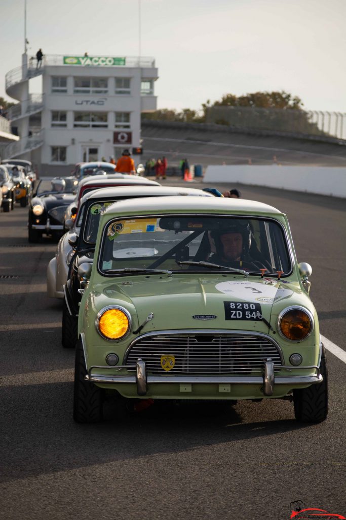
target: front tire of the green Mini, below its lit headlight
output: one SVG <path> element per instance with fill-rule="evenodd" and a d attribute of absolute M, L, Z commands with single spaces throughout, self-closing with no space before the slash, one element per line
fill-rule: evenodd
<path fill-rule="evenodd" d="M 81 341 L 76 344 L 73 418 L 77 423 L 97 423 L 103 419 L 104 391 L 85 381 L 87 373 Z"/>

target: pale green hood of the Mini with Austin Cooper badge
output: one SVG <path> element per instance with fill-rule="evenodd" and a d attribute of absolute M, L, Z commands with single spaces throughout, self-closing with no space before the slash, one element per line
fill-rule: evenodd
<path fill-rule="evenodd" d="M 137 316 L 139 324 L 153 313 L 154 318 L 143 332 L 169 328 L 231 328 L 268 333 L 268 326 L 258 318 L 257 311 L 270 322 L 274 316 L 276 320 L 282 308 L 307 304 L 308 297 L 297 282 L 249 278 L 186 274 L 122 277 L 120 283 L 113 279 L 97 285 L 92 297 L 98 311 L 109 305 L 121 305 L 134 319 Z M 237 314 L 239 307 L 241 314 Z M 245 314 L 246 310 L 250 316 Z"/>

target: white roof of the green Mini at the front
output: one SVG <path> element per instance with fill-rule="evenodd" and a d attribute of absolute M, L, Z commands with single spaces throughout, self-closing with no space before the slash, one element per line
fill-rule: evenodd
<path fill-rule="evenodd" d="M 196 213 L 239 213 L 242 214 L 271 214 L 273 216 L 283 215 L 273 206 L 264 204 L 262 202 L 246 200 L 246 199 L 231 199 L 224 197 L 155 197 L 142 198 L 136 200 L 135 207 L 133 201 L 122 200 L 111 204 L 105 211 L 105 216 L 108 218 L 112 214 L 119 213 L 155 213 L 155 212 L 196 212 Z"/>

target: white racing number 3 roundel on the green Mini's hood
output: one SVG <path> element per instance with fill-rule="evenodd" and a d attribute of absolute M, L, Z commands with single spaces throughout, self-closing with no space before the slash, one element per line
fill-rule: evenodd
<path fill-rule="evenodd" d="M 276 287 L 258 282 L 220 282 L 215 289 L 229 296 L 239 298 L 245 302 L 273 303 L 276 296 Z"/>

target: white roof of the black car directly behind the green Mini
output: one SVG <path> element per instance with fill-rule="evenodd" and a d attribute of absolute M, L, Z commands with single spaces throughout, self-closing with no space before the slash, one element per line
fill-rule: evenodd
<path fill-rule="evenodd" d="M 211 193 L 196 188 L 178 188 L 175 186 L 115 186 L 112 188 L 95 189 L 89 191 L 82 197 L 82 202 L 86 199 L 105 199 L 109 197 L 169 197 L 169 196 L 197 196 L 214 197 Z"/>

